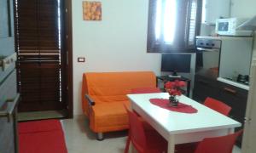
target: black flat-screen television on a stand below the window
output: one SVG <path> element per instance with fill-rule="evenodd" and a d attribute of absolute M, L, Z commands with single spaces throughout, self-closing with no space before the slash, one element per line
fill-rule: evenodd
<path fill-rule="evenodd" d="M 172 72 L 172 76 L 177 76 L 177 72 L 190 72 L 191 54 L 162 54 L 161 71 Z"/>

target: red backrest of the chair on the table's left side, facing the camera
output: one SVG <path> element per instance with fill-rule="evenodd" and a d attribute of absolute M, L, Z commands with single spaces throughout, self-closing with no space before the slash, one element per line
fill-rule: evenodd
<path fill-rule="evenodd" d="M 138 152 L 144 152 L 146 148 L 146 136 L 143 129 L 143 123 L 138 120 L 136 113 L 126 108 L 129 116 L 131 142 Z"/>

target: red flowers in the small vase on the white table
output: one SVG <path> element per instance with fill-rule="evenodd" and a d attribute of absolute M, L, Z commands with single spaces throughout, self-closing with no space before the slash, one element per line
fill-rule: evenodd
<path fill-rule="evenodd" d="M 185 87 L 186 83 L 183 81 L 175 80 L 174 82 L 166 82 L 165 88 L 166 92 L 168 92 L 170 95 L 181 95 L 181 88 Z"/>

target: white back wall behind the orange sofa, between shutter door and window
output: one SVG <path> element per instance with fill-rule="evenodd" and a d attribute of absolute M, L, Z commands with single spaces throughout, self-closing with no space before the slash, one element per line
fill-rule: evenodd
<path fill-rule="evenodd" d="M 147 54 L 148 0 L 102 0 L 102 21 L 84 21 L 73 0 L 73 107 L 82 114 L 81 82 L 89 71 L 154 71 L 160 54 Z M 78 63 L 85 57 L 85 63 Z"/>

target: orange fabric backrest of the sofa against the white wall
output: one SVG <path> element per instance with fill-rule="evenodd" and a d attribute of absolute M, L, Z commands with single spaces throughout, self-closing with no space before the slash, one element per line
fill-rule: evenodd
<path fill-rule="evenodd" d="M 124 100 L 124 96 L 130 94 L 132 88 L 156 87 L 156 78 L 152 71 L 89 72 L 84 73 L 84 81 L 90 96 L 109 97 L 109 100 L 113 100 L 111 97 L 114 96 L 116 101 Z"/>

